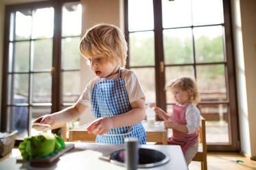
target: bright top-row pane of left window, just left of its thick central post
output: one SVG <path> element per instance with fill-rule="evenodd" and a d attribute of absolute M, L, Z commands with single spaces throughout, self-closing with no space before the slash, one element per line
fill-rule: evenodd
<path fill-rule="evenodd" d="M 54 8 L 37 9 L 33 14 L 32 38 L 51 38 L 54 35 Z"/>

